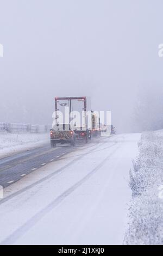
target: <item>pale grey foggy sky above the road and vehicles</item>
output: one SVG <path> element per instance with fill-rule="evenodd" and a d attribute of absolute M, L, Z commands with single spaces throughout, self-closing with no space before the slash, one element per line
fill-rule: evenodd
<path fill-rule="evenodd" d="M 163 84 L 162 0 L 0 0 L 0 122 L 52 122 L 54 96 L 91 96 L 118 132 Z M 130 121 L 132 120 L 132 122 Z"/>

